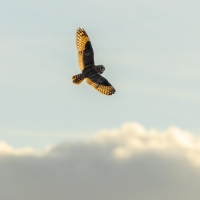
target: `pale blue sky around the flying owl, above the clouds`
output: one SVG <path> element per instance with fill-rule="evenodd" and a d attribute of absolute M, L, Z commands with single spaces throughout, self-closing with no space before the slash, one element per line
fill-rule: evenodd
<path fill-rule="evenodd" d="M 10 0 L 0 3 L 0 140 L 44 147 L 139 122 L 200 132 L 200 2 Z M 117 92 L 79 73 L 75 32 Z"/>

